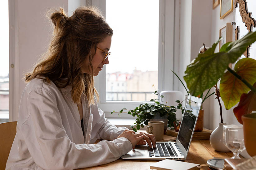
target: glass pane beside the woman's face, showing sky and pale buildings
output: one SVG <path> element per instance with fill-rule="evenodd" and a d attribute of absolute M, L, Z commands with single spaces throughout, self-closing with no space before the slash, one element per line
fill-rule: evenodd
<path fill-rule="evenodd" d="M 159 0 L 106 0 L 106 21 L 114 31 L 106 100 L 150 101 L 158 84 Z M 118 82 L 112 91 L 110 82 Z"/>

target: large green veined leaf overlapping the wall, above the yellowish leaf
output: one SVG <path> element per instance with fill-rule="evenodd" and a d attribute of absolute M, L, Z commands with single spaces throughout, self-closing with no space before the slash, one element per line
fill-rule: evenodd
<path fill-rule="evenodd" d="M 243 38 L 223 45 L 221 52 L 214 53 L 219 40 L 187 66 L 184 80 L 191 95 L 197 96 L 213 87 L 227 69 L 229 63 L 235 62 L 246 48 L 256 40 L 256 32 L 249 32 Z"/>

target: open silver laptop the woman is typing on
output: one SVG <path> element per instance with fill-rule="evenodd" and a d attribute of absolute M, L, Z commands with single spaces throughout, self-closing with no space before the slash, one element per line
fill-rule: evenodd
<path fill-rule="evenodd" d="M 188 96 L 176 142 L 156 142 L 153 149 L 148 144 L 137 145 L 122 159 L 186 159 L 201 104 L 201 98 Z"/>

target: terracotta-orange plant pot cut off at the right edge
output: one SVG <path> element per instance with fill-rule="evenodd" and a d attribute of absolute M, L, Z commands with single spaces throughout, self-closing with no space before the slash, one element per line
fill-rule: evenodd
<path fill-rule="evenodd" d="M 242 116 L 245 148 L 250 156 L 256 155 L 256 113 Z"/>

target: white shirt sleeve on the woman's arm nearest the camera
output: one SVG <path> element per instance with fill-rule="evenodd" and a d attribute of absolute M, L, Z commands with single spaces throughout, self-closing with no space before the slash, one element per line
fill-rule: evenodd
<path fill-rule="evenodd" d="M 34 90 L 28 96 L 29 116 L 21 125 L 22 136 L 34 162 L 43 169 L 76 169 L 106 164 L 132 149 L 127 138 L 98 144 L 71 142 L 50 91 Z"/>

